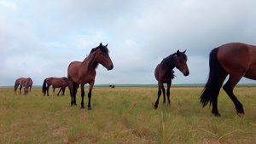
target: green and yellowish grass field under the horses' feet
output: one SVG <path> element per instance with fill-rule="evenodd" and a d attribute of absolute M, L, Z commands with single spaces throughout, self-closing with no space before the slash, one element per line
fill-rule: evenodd
<path fill-rule="evenodd" d="M 48 97 L 39 88 L 29 95 L 1 88 L 0 143 L 255 143 L 256 88 L 235 89 L 244 117 L 221 90 L 220 118 L 201 107 L 201 90 L 172 88 L 171 106 L 161 96 L 154 110 L 157 88 L 95 88 L 88 111 L 80 109 L 80 92 L 78 106 L 70 107 L 68 89 Z"/>

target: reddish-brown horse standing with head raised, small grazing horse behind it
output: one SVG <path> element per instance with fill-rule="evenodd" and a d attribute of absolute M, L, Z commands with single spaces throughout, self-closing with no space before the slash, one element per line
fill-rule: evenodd
<path fill-rule="evenodd" d="M 76 93 L 81 84 L 81 108 L 84 108 L 84 84 L 90 84 L 88 92 L 88 110 L 90 107 L 91 90 L 95 82 L 96 67 L 99 64 L 106 67 L 108 70 L 113 69 L 113 63 L 108 55 L 108 44 L 103 46 L 102 43 L 94 49 L 91 49 L 90 55 L 88 55 L 84 61 L 73 61 L 67 68 L 67 78 L 71 95 L 71 106 L 77 105 Z"/>

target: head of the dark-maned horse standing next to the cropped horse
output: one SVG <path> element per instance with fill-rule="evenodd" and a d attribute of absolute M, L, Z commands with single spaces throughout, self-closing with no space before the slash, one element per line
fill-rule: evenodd
<path fill-rule="evenodd" d="M 187 49 L 183 52 L 180 52 L 179 50 L 177 50 L 176 55 L 173 56 L 175 66 L 180 72 L 183 72 L 184 76 L 189 75 L 189 67 L 187 65 L 188 58 L 187 58 L 187 55 L 185 55 L 186 51 Z"/>

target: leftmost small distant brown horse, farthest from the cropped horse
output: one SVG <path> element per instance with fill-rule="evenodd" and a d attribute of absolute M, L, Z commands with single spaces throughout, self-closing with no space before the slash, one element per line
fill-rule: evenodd
<path fill-rule="evenodd" d="M 33 84 L 33 81 L 31 78 L 18 78 L 15 81 L 15 95 L 16 95 L 16 90 L 18 89 L 19 85 L 20 85 L 20 95 L 21 95 L 22 86 L 25 87 L 24 95 L 26 95 L 28 93 L 28 88 L 30 88 L 29 91 L 31 91 L 32 84 Z"/>

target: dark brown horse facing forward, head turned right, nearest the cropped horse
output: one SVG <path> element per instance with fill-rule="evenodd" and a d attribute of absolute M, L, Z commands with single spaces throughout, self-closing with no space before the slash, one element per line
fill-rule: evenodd
<path fill-rule="evenodd" d="M 170 88 L 172 84 L 172 78 L 174 78 L 174 75 L 173 75 L 174 72 L 172 71 L 174 67 L 177 67 L 177 69 L 180 72 L 183 72 L 184 76 L 189 75 L 189 68 L 187 66 L 188 59 L 187 59 L 187 55 L 185 55 L 185 52 L 186 50 L 183 52 L 180 52 L 179 50 L 177 50 L 177 53 L 169 55 L 164 60 L 162 60 L 160 64 L 158 64 L 155 67 L 154 77 L 158 81 L 158 98 L 155 101 L 154 109 L 157 109 L 158 107 L 161 90 L 163 91 L 163 95 L 164 95 L 164 103 L 166 103 L 166 95 L 168 98 L 168 104 L 171 103 Z M 164 87 L 164 84 L 167 84 L 167 91 Z"/>

